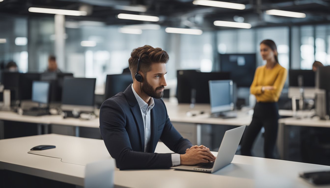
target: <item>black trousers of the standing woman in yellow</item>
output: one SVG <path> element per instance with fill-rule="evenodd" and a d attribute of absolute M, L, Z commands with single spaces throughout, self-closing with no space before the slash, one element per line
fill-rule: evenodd
<path fill-rule="evenodd" d="M 261 127 L 265 128 L 264 153 L 266 158 L 274 159 L 279 120 L 279 107 L 277 102 L 257 102 L 254 106 L 250 125 L 244 132 L 241 154 L 252 156 L 251 148 Z"/>

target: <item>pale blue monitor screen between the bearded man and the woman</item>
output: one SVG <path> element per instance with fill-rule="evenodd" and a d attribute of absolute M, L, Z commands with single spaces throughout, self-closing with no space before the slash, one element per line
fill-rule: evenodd
<path fill-rule="evenodd" d="M 234 109 L 232 80 L 210 80 L 209 87 L 211 113 Z"/>

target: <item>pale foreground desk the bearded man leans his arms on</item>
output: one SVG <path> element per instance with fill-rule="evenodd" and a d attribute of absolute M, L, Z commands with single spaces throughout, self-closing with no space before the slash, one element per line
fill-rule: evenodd
<path fill-rule="evenodd" d="M 48 134 L 0 140 L 0 168 L 30 175 L 45 177 L 76 185 L 83 185 L 84 166 L 61 162 L 61 159 L 27 153 L 30 148 L 40 144 L 54 144 L 66 147 L 75 143 L 80 148 L 81 157 L 90 156 L 89 147 L 99 148 L 94 157 L 84 159 L 92 162 L 109 157 L 104 152 L 102 140 Z M 169 152 L 158 143 L 157 152 Z M 85 154 L 84 154 L 85 153 Z M 216 154 L 216 152 L 215 152 Z M 63 156 L 68 153 L 63 153 Z M 78 160 L 78 159 L 77 159 Z M 81 159 L 79 159 L 81 160 Z M 329 166 L 265 159 L 235 155 L 232 164 L 214 174 L 165 170 L 125 170 L 115 169 L 115 184 L 125 187 L 313 187 L 298 177 L 299 172 L 330 170 Z M 147 178 L 146 178 L 147 177 Z"/>

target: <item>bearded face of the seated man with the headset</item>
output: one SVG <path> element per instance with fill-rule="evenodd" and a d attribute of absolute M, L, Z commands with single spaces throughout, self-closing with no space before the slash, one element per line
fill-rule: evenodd
<path fill-rule="evenodd" d="M 164 75 L 167 73 L 165 63 L 152 63 L 151 70 L 143 76 L 142 91 L 153 98 L 161 98 L 167 85 Z"/>

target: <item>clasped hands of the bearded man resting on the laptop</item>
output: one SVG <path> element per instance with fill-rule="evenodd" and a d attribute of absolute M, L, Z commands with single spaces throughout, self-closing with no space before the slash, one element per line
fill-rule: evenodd
<path fill-rule="evenodd" d="M 215 156 L 211 153 L 210 149 L 203 145 L 187 148 L 186 153 L 180 155 L 181 165 L 195 165 L 197 163 L 207 163 L 214 160 Z"/>

